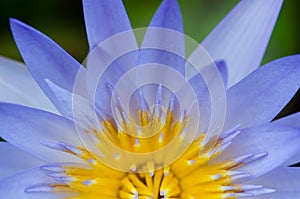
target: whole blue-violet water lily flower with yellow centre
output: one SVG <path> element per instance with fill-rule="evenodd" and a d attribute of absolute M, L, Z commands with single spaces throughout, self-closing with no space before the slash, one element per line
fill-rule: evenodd
<path fill-rule="evenodd" d="M 300 56 L 259 67 L 282 3 L 240 1 L 186 57 L 176 0 L 140 46 L 121 0 L 83 0 L 86 67 L 11 19 L 29 72 L 0 58 L 0 198 L 300 198 L 300 114 L 273 121 Z"/>

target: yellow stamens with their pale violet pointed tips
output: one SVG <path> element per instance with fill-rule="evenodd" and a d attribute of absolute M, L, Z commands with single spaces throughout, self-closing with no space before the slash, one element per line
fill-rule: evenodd
<path fill-rule="evenodd" d="M 120 164 L 127 161 L 128 157 L 108 150 L 107 143 L 138 154 L 158 151 L 174 140 L 179 147 L 186 137 L 189 116 L 186 114 L 176 119 L 173 107 L 170 105 L 165 112 L 160 106 L 154 106 L 151 111 L 141 109 L 137 124 L 122 106 L 116 106 L 117 121 L 106 117 L 101 121 L 100 130 L 91 129 L 85 133 L 96 143 L 97 150 L 104 157 L 111 156 L 112 161 Z M 266 154 L 246 154 L 228 161 L 213 161 L 238 133 L 232 129 L 213 142 L 205 141 L 206 135 L 200 134 L 172 163 L 159 164 L 155 160 L 147 160 L 132 163 L 128 171 L 110 167 L 101 162 L 97 154 L 84 147 L 67 143 L 43 143 L 49 148 L 79 157 L 86 165 L 45 165 L 41 169 L 55 183 L 47 187 L 32 186 L 26 191 L 50 191 L 62 194 L 62 199 L 233 199 L 253 196 L 253 191 L 267 189 L 258 185 L 239 184 L 239 179 L 248 176 L 240 168 Z M 168 151 L 170 154 L 173 152 Z M 168 156 L 164 155 L 165 158 Z"/>

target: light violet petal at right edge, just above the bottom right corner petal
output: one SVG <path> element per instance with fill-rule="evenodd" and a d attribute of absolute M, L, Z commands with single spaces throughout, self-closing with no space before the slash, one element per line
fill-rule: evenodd
<path fill-rule="evenodd" d="M 259 157 L 267 153 L 267 156 L 240 168 L 255 178 L 282 165 L 300 152 L 299 132 L 299 128 L 278 125 L 243 129 L 216 161 L 230 160 L 246 154 Z"/>

